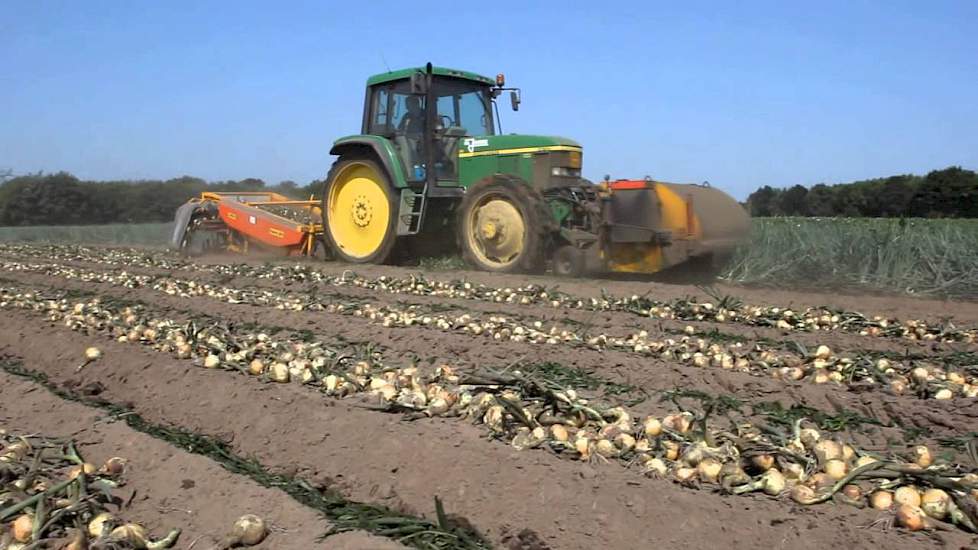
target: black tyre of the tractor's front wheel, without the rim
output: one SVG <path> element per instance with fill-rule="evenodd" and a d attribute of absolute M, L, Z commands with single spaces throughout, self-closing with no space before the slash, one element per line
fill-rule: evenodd
<path fill-rule="evenodd" d="M 468 234 L 471 227 L 467 220 L 470 219 L 473 209 L 491 197 L 502 198 L 511 203 L 523 219 L 523 249 L 507 265 L 482 260 L 480 253 L 472 249 L 475 245 Z M 520 178 L 496 174 L 476 182 L 466 190 L 458 208 L 456 241 L 462 257 L 477 269 L 499 273 L 538 273 L 544 268 L 553 226 L 553 217 L 539 192 Z"/>

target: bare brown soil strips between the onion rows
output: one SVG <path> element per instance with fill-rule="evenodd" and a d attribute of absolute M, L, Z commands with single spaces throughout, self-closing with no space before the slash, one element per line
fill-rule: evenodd
<path fill-rule="evenodd" d="M 31 261 L 44 260 L 32 258 Z M 86 265 L 96 271 L 111 269 L 84 262 L 78 262 L 78 265 Z M 349 269 L 349 266 L 327 263 L 322 264 L 322 269 L 338 274 Z M 164 270 L 129 270 L 165 273 Z M 405 275 L 417 270 L 357 266 L 356 271 L 363 275 L 379 276 Z M 213 278 L 213 274 L 191 271 L 177 271 L 173 275 L 196 280 Z M 827 411 L 840 406 L 875 416 L 888 425 L 866 433 L 851 434 L 865 449 L 884 449 L 893 445 L 894 441 L 899 442 L 901 429 L 896 421 L 931 430 L 931 435 L 921 440 L 931 443 L 939 437 L 964 435 L 978 424 L 978 404 L 975 400 L 937 402 L 879 391 L 851 392 L 835 385 L 785 384 L 745 373 L 697 369 L 619 351 L 500 343 L 491 338 L 430 328 L 384 328 L 366 319 L 344 315 L 286 312 L 268 307 L 226 304 L 207 298 L 172 297 L 152 289 L 127 289 L 105 283 L 69 281 L 26 273 L 0 272 L 0 276 L 18 285 L 84 290 L 108 297 L 138 300 L 156 314 L 172 318 L 209 315 L 240 323 L 309 330 L 316 338 L 329 342 L 370 341 L 382 346 L 385 359 L 395 363 L 417 356 L 447 361 L 465 370 L 479 366 L 504 367 L 520 358 L 528 362 L 559 361 L 566 366 L 591 369 L 609 380 L 626 382 L 644 390 L 649 397 L 635 407 L 643 413 L 671 411 L 672 405 L 660 402 L 656 393 L 676 387 L 731 394 L 746 402 L 778 400 L 785 406 L 804 404 Z M 559 284 L 561 290 L 582 296 L 597 296 L 600 287 L 617 295 L 642 294 L 651 290 L 656 297 L 664 299 L 701 294 L 695 287 L 634 281 L 602 280 L 595 283 L 475 272 L 431 273 L 428 276 L 465 276 L 494 286 L 518 286 L 527 282 Z M 294 290 L 307 288 L 307 285 L 287 285 L 245 277 L 222 280 L 222 284 Z M 595 327 L 608 333 L 625 334 L 639 329 L 657 333 L 661 330 L 678 330 L 685 325 L 679 322 L 659 323 L 624 313 L 603 313 L 587 319 L 587 312 L 554 310 L 543 306 L 399 296 L 344 287 L 322 287 L 321 290 L 335 292 L 337 299 L 349 296 L 368 297 L 387 304 L 399 301 L 441 304 L 458 311 L 498 311 L 531 320 L 589 320 Z M 733 287 L 724 287 L 721 292 L 735 294 L 744 301 L 757 304 L 791 304 L 796 308 L 832 305 L 861 310 L 866 314 L 902 318 L 939 319 L 953 315 L 956 322 L 961 324 L 978 323 L 978 305 L 969 303 L 769 292 Z M 756 330 L 729 323 L 696 325 L 702 325 L 698 328 L 704 330 L 716 327 L 748 339 L 757 336 L 784 338 L 778 331 L 770 329 Z M 924 346 L 851 334 L 799 334 L 791 335 L 791 338 L 806 344 L 826 343 L 833 349 L 843 350 L 903 351 L 909 347 L 917 353 L 940 353 L 957 349 L 955 346 Z M 105 357 L 76 374 L 72 367 L 77 363 L 81 350 L 93 344 L 103 349 Z M 220 436 L 231 441 L 240 454 L 253 455 L 277 471 L 297 473 L 315 483 L 339 489 L 354 500 L 391 506 L 432 518 L 433 499 L 439 496 L 449 513 L 465 518 L 495 545 L 504 548 L 643 548 L 653 544 L 676 548 L 965 548 L 978 543 L 974 537 L 956 530 L 929 534 L 884 530 L 877 520 L 886 519 L 889 514 L 881 512 L 831 504 L 803 508 L 787 500 L 724 496 L 706 488 L 688 489 L 667 480 L 648 479 L 616 464 L 588 465 L 543 451 L 519 452 L 502 442 L 487 440 L 480 427 L 458 420 L 405 422 L 396 415 L 367 410 L 356 400 L 331 399 L 306 387 L 262 384 L 225 371 L 199 369 L 189 361 L 178 361 L 148 348 L 120 344 L 104 337 L 85 337 L 63 326 L 52 326 L 25 312 L 5 312 L 0 319 L 0 351 L 23 358 L 31 368 L 44 372 L 53 382 L 67 387 L 79 388 L 98 382 L 102 388 L 100 398 L 131 405 L 149 421 Z M 52 435 L 83 434 L 83 440 L 97 440 L 91 442 L 92 450 L 88 451 L 93 456 L 104 456 L 99 453 L 125 456 L 125 450 L 113 449 L 116 448 L 114 446 L 119 449 L 132 448 L 125 447 L 128 438 L 140 441 L 140 445 L 143 444 L 142 439 L 146 439 L 146 448 L 154 449 L 140 455 L 170 457 L 165 461 L 166 469 L 155 469 L 152 464 L 156 463 L 134 469 L 134 476 L 151 471 L 154 476 L 151 479 L 149 474 L 147 479 L 131 479 L 132 486 L 140 487 L 141 491 L 142 487 L 146 487 L 144 494 L 152 501 L 143 508 L 139 519 L 154 529 L 169 525 L 184 527 L 185 538 L 181 539 L 181 544 L 198 535 L 219 534 L 234 517 L 255 511 L 256 508 L 249 506 L 258 505 L 258 509 L 268 511 L 266 516 L 270 518 L 274 517 L 271 511 L 280 512 L 273 523 L 293 526 L 287 527 L 287 531 L 275 533 L 276 544 L 269 548 L 317 547 L 311 542 L 306 545 L 306 542 L 321 534 L 326 524 L 314 512 L 304 509 L 284 494 L 263 489 L 248 479 L 232 476 L 203 457 L 168 447 L 134 433 L 120 423 L 97 423 L 96 412 L 65 403 L 43 391 L 28 391 L 32 388 L 26 382 L 11 382 L 3 386 L 0 411 L 7 424 L 20 423 L 24 430 L 53 432 Z M 14 391 L 17 388 L 20 389 Z M 28 399 L 43 400 L 34 402 Z M 77 412 L 78 409 L 82 412 Z M 121 439 L 110 437 L 109 432 L 116 430 L 120 431 Z M 160 461 L 163 463 L 163 459 Z M 180 476 L 184 474 L 177 472 L 184 469 L 195 472 L 192 478 L 198 490 L 188 493 L 179 489 L 180 480 L 183 479 Z M 178 498 L 187 500 L 175 500 Z M 220 504 L 215 505 L 215 501 Z M 171 505 L 179 509 L 206 509 L 209 515 L 201 512 L 188 518 L 177 512 L 159 511 L 160 508 L 166 510 L 166 506 L 159 502 L 181 502 Z M 228 503 L 232 502 L 235 505 L 229 506 Z M 156 511 L 152 511 L 154 509 Z M 354 546 L 341 547 L 374 548 L 381 547 L 372 546 L 375 542 L 388 543 L 377 538 L 363 540 L 362 536 L 359 533 L 349 535 L 347 540 L 352 541 L 350 544 Z M 337 537 L 330 538 L 321 547 L 332 548 L 341 541 L 346 543 L 346 540 Z M 268 544 L 271 544 L 271 539 Z"/>

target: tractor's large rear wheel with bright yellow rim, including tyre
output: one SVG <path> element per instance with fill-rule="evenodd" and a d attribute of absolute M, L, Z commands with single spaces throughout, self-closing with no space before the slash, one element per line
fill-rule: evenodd
<path fill-rule="evenodd" d="M 396 239 L 397 205 L 384 170 L 373 160 L 341 158 L 323 187 L 323 233 L 352 263 L 385 263 Z"/>

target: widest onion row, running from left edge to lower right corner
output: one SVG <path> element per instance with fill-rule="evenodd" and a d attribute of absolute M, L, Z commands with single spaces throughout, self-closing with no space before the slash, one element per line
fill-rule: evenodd
<path fill-rule="evenodd" d="M 114 308 L 97 299 L 72 302 L 9 288 L 0 298 L 0 307 L 34 310 L 71 329 L 148 345 L 203 368 L 300 382 L 336 397 L 357 395 L 412 416 L 468 419 L 517 449 L 617 461 L 649 476 L 732 494 L 762 492 L 788 495 L 801 505 L 831 500 L 892 510 L 910 530 L 949 523 L 976 531 L 978 472 L 937 459 L 925 446 L 908 456 L 863 452 L 804 421 L 779 440 L 748 422 L 713 426 L 708 411 L 639 418 L 519 371 L 385 367 L 376 358 L 345 359 L 318 342 L 152 319 L 139 307 Z M 97 348 L 88 350 L 85 361 L 100 356 Z"/>

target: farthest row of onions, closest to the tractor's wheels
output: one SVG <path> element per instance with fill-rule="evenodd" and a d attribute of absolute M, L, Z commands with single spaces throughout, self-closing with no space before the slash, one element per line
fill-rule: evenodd
<path fill-rule="evenodd" d="M 880 315 L 867 316 L 854 311 L 824 307 L 808 307 L 797 311 L 783 306 L 747 305 L 731 298 L 718 297 L 713 301 L 692 297 L 658 300 L 638 295 L 604 295 L 602 298 L 586 298 L 536 284 L 521 287 L 494 287 L 462 279 L 430 280 L 421 274 L 409 277 L 368 278 L 348 271 L 335 275 L 308 263 L 197 264 L 158 251 L 101 249 L 73 245 L 5 244 L 0 245 L 0 253 L 131 267 L 206 271 L 231 277 L 354 286 L 393 294 L 438 296 L 507 304 L 538 304 L 591 311 L 621 311 L 656 319 L 740 323 L 748 326 L 773 327 L 784 331 L 841 331 L 864 336 L 969 344 L 978 341 L 978 329 L 959 328 L 950 322 L 901 320 Z"/>

